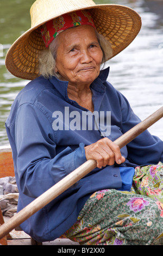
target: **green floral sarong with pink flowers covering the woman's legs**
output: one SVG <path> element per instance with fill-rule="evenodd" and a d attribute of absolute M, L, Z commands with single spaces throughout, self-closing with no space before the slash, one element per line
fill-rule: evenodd
<path fill-rule="evenodd" d="M 131 191 L 92 194 L 66 231 L 80 245 L 163 245 L 163 164 L 136 167 Z"/>

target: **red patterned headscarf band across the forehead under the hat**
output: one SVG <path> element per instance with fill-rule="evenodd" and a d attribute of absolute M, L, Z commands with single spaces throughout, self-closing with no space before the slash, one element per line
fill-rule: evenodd
<path fill-rule="evenodd" d="M 61 32 L 65 31 L 67 28 L 76 27 L 80 25 L 90 25 L 95 27 L 92 20 L 91 14 L 86 10 L 75 11 L 74 13 L 64 14 L 53 20 L 46 22 L 41 26 L 41 35 L 45 46 L 48 47 L 49 44 L 54 40 L 54 38 Z"/>

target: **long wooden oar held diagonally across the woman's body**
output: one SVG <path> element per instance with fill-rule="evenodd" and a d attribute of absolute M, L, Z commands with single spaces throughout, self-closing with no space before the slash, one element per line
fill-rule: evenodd
<path fill-rule="evenodd" d="M 154 124 L 156 121 L 163 117 L 163 107 L 159 108 L 158 111 L 154 112 L 148 118 L 143 120 L 141 123 L 134 126 L 128 132 L 124 133 L 120 138 L 114 141 L 120 148 L 127 145 L 130 141 L 136 138 L 140 133 L 148 129 L 149 126 Z M 32 203 L 28 204 L 20 212 L 14 215 L 8 222 L 5 222 L 0 227 L 0 239 L 7 235 L 12 229 L 16 228 L 22 222 L 26 221 L 35 212 L 42 209 L 45 205 L 50 203 L 53 199 L 58 197 L 61 193 L 71 187 L 77 181 L 82 179 L 86 174 L 96 168 L 95 160 L 88 160 L 82 166 L 73 170 L 72 173 L 68 174 L 64 179 L 60 180 L 57 184 L 49 188 L 41 196 L 37 197 Z"/>

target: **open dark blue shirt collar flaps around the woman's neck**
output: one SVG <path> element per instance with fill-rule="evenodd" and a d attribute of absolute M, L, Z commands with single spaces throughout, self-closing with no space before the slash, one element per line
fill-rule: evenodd
<path fill-rule="evenodd" d="M 98 92 L 105 92 L 105 86 L 103 83 L 108 78 L 109 69 L 110 68 L 108 67 L 108 68 L 100 71 L 99 76 L 91 84 L 91 87 L 93 87 L 93 89 L 98 90 Z M 69 102 L 70 99 L 67 94 L 68 81 L 61 81 L 55 76 L 53 76 L 52 78 L 49 78 L 49 81 L 53 84 L 55 89 L 57 89 L 58 92 L 64 97 L 64 99 L 67 102 Z"/>

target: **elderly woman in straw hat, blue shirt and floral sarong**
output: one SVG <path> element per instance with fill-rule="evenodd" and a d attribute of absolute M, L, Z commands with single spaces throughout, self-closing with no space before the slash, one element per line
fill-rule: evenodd
<path fill-rule="evenodd" d="M 140 119 L 101 70 L 135 38 L 140 17 L 120 5 L 66 3 L 36 1 L 35 23 L 6 58 L 12 74 L 32 80 L 6 122 L 18 211 L 86 160 L 97 167 L 21 227 L 37 241 L 163 244 L 163 142 L 145 131 L 120 150 L 114 140 Z"/>

